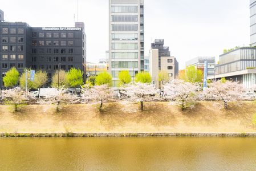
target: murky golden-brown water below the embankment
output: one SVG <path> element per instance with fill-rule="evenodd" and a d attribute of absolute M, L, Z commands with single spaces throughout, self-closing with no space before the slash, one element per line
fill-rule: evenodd
<path fill-rule="evenodd" d="M 5 138 L 0 170 L 256 170 L 256 138 Z"/>

